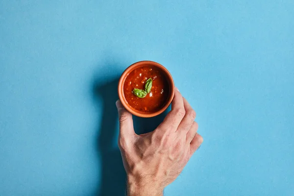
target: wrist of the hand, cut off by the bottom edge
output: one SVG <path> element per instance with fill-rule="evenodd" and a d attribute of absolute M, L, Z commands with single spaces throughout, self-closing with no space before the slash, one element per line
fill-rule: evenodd
<path fill-rule="evenodd" d="M 127 196 L 163 196 L 163 189 L 154 180 L 127 176 Z"/>

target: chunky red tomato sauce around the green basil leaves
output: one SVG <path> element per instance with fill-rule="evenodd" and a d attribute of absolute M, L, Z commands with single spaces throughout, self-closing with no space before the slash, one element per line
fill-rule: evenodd
<path fill-rule="evenodd" d="M 145 98 L 138 98 L 133 90 L 144 90 L 147 79 L 152 78 L 152 88 Z M 169 83 L 160 69 L 154 66 L 144 66 L 133 70 L 126 77 L 123 93 L 128 104 L 141 112 L 156 112 L 160 110 L 169 96 Z"/>

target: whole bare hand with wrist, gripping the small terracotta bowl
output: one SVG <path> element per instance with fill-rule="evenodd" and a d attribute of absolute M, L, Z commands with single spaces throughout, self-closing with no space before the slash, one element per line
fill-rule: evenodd
<path fill-rule="evenodd" d="M 137 135 L 131 113 L 119 100 L 116 105 L 128 196 L 163 196 L 164 188 L 182 172 L 203 142 L 197 133 L 196 112 L 176 88 L 172 110 L 164 121 L 154 131 Z"/>

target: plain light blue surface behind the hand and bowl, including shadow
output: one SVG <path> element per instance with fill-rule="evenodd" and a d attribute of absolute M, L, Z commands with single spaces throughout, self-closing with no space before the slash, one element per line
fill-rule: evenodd
<path fill-rule="evenodd" d="M 116 86 L 140 60 L 204 138 L 166 196 L 294 195 L 293 0 L 0 0 L 0 196 L 123 196 Z"/>

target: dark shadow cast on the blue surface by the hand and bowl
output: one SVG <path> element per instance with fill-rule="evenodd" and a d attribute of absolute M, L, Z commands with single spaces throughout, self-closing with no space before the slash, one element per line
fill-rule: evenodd
<path fill-rule="evenodd" d="M 102 98 L 102 120 L 99 127 L 98 151 L 101 155 L 102 179 L 98 196 L 124 196 L 126 189 L 126 174 L 123 168 L 121 153 L 113 147 L 113 141 L 117 137 L 118 114 L 115 102 L 118 99 L 117 85 L 119 78 L 99 85 L 94 84 L 95 99 Z M 167 111 L 153 118 L 139 118 L 133 116 L 134 129 L 137 134 L 154 130 L 164 119 Z"/>

